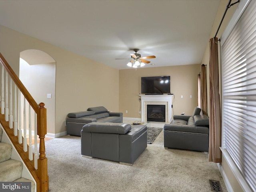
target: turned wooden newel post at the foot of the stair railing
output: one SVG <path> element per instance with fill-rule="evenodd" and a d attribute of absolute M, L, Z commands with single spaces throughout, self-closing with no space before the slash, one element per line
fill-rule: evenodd
<path fill-rule="evenodd" d="M 47 158 L 45 156 L 44 138 L 47 134 L 46 128 L 46 108 L 44 103 L 39 104 L 39 110 L 37 113 L 37 134 L 40 139 L 39 146 L 39 159 L 38 159 L 38 176 L 40 178 L 40 192 L 49 191 L 49 179 L 47 170 Z"/>

